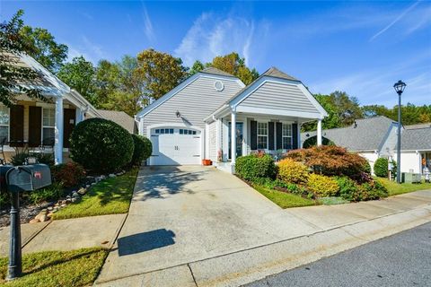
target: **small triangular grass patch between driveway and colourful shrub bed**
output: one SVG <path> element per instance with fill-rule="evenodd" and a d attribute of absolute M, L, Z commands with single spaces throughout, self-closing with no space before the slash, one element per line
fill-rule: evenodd
<path fill-rule="evenodd" d="M 317 203 L 312 199 L 303 198 L 301 196 L 295 196 L 286 192 L 270 189 L 268 187 L 253 186 L 254 189 L 259 191 L 263 196 L 267 197 L 274 204 L 277 204 L 281 208 L 289 207 L 301 207 L 316 205 Z"/>

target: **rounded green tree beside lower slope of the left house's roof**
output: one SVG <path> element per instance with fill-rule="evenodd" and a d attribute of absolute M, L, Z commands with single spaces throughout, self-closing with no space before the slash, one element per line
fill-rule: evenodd
<path fill-rule="evenodd" d="M 97 98 L 95 97 L 95 74 L 92 62 L 80 56 L 74 57 L 72 62 L 61 66 L 57 76 L 69 87 L 82 94 L 93 105 L 97 105 Z"/>

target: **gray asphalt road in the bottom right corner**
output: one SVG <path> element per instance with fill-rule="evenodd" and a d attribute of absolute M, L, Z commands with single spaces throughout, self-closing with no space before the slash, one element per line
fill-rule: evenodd
<path fill-rule="evenodd" d="M 431 223 L 246 286 L 431 286 Z"/>

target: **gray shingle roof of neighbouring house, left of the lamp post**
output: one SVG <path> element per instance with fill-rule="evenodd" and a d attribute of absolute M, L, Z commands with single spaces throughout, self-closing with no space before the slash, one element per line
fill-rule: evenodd
<path fill-rule="evenodd" d="M 356 125 L 325 129 L 321 135 L 349 151 L 378 151 L 385 141 L 392 124 L 388 117 L 370 117 L 356 120 Z M 316 131 L 301 134 L 301 141 L 315 136 Z"/>

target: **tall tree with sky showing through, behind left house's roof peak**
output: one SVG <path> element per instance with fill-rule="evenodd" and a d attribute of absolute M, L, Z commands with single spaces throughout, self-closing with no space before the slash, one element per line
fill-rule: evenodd
<path fill-rule="evenodd" d="M 20 35 L 26 43 L 26 53 L 49 71 L 56 73 L 66 61 L 67 46 L 58 44 L 48 30 L 23 26 Z"/>

